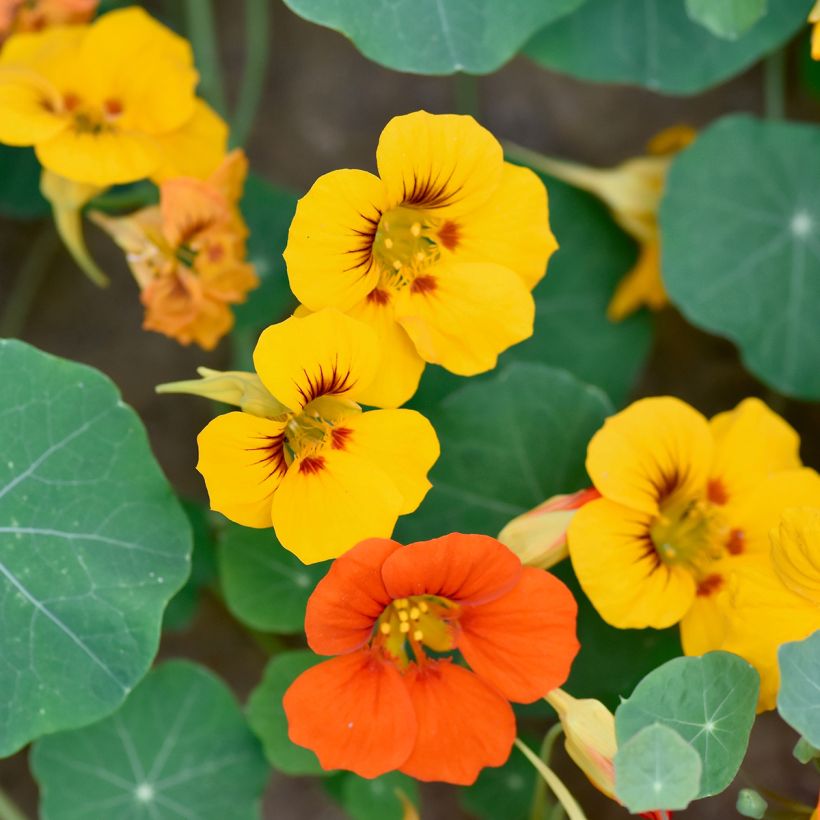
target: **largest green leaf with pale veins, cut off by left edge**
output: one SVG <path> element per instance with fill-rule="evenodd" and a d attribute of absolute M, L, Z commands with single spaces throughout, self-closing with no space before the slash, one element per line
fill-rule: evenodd
<path fill-rule="evenodd" d="M 191 530 L 84 365 L 0 340 L 0 756 L 114 711 L 157 651 Z"/>

